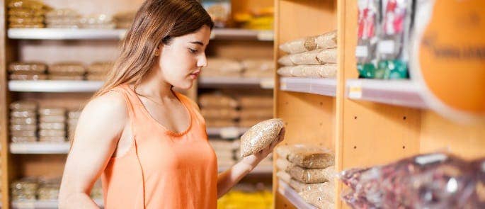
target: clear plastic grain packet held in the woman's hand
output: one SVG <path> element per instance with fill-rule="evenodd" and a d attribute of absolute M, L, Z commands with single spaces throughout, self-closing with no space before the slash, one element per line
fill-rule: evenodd
<path fill-rule="evenodd" d="M 264 120 L 254 125 L 241 136 L 241 157 L 256 154 L 278 140 L 278 135 L 284 126 L 280 118 Z"/>

